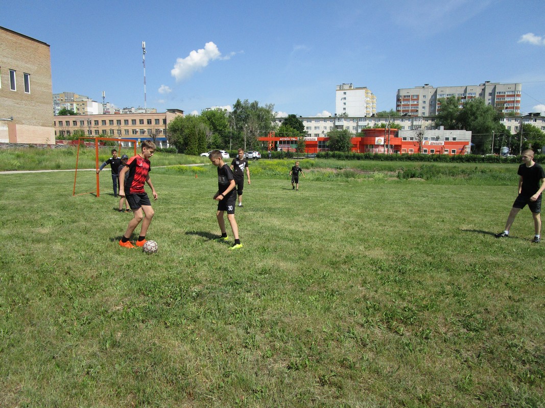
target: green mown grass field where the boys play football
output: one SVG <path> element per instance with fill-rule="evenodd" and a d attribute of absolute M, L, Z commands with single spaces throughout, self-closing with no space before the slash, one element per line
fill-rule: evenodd
<path fill-rule="evenodd" d="M 0 406 L 545 406 L 544 250 L 528 209 L 493 236 L 516 165 L 292 164 L 251 163 L 234 253 L 215 168 L 155 168 L 150 256 L 105 172 L 0 174 Z"/>

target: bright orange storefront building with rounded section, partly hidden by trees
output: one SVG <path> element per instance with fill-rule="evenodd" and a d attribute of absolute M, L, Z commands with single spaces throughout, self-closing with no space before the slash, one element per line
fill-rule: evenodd
<path fill-rule="evenodd" d="M 424 153 L 424 154 L 465 154 L 469 152 L 468 140 L 422 140 L 420 151 L 419 141 L 414 137 L 399 137 L 398 129 L 363 129 L 358 136 L 352 138 L 352 151 L 354 153 Z M 413 140 L 411 140 L 413 139 Z M 447 139 L 447 138 L 445 138 Z M 451 139 L 451 138 L 448 138 Z M 453 138 L 456 139 L 456 138 Z M 267 137 L 258 139 L 269 150 L 293 152 L 297 148 L 296 138 L 276 137 L 270 132 Z M 328 151 L 327 137 L 306 137 L 305 153 L 317 153 Z"/>

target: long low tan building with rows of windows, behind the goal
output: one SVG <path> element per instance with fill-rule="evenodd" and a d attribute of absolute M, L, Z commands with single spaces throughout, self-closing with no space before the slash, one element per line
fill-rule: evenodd
<path fill-rule="evenodd" d="M 75 131 L 87 137 L 116 139 L 155 139 L 159 147 L 167 146 L 167 126 L 177 116 L 183 116 L 180 109 L 167 109 L 162 113 L 127 113 L 102 115 L 55 116 L 53 121 L 55 137 L 74 135 Z"/>

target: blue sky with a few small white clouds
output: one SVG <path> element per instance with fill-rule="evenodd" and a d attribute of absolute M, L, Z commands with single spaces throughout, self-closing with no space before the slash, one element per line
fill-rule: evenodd
<path fill-rule="evenodd" d="M 29 1 L 0 26 L 51 45 L 53 92 L 117 107 L 186 113 L 272 103 L 335 113 L 335 87 L 367 86 L 377 110 L 398 88 L 522 83 L 521 110 L 545 111 L 545 1 Z"/>

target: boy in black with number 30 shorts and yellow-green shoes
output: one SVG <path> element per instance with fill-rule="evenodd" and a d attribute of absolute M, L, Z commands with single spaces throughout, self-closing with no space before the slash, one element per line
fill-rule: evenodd
<path fill-rule="evenodd" d="M 212 197 L 217 203 L 217 224 L 220 226 L 221 237 L 219 239 L 226 241 L 227 230 L 225 228 L 225 219 L 223 219 L 223 213 L 227 211 L 227 219 L 231 224 L 231 230 L 233 230 L 233 237 L 235 243 L 231 246 L 231 250 L 242 248 L 238 234 L 238 225 L 235 220 L 235 202 L 237 201 L 237 190 L 235 190 L 235 180 L 233 171 L 227 164 L 223 162 L 223 157 L 219 150 L 213 150 L 208 158 L 213 165 L 217 167 L 217 193 Z"/>

